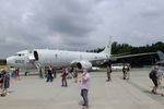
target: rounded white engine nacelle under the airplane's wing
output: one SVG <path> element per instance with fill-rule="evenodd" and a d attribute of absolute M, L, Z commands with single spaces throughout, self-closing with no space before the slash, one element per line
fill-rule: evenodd
<path fill-rule="evenodd" d="M 78 69 L 87 69 L 91 70 L 92 69 L 92 63 L 89 61 L 81 61 L 77 63 Z"/>

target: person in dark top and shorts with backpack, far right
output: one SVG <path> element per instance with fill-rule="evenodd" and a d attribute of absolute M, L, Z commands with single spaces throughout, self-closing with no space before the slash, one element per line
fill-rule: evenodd
<path fill-rule="evenodd" d="M 150 72 L 149 76 L 152 80 L 154 87 L 152 88 L 152 93 L 156 94 L 156 89 L 157 89 L 157 69 L 159 66 L 155 65 L 154 69 Z"/>

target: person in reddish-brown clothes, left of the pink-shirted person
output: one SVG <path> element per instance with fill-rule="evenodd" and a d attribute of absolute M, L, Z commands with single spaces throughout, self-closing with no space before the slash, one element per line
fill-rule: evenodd
<path fill-rule="evenodd" d="M 62 80 L 61 80 L 61 82 L 62 82 L 62 85 L 61 85 L 61 87 L 67 87 L 68 85 L 67 85 L 67 75 L 68 75 L 68 69 L 66 68 L 63 68 L 62 69 L 62 73 L 61 73 L 61 77 L 62 77 Z"/>

